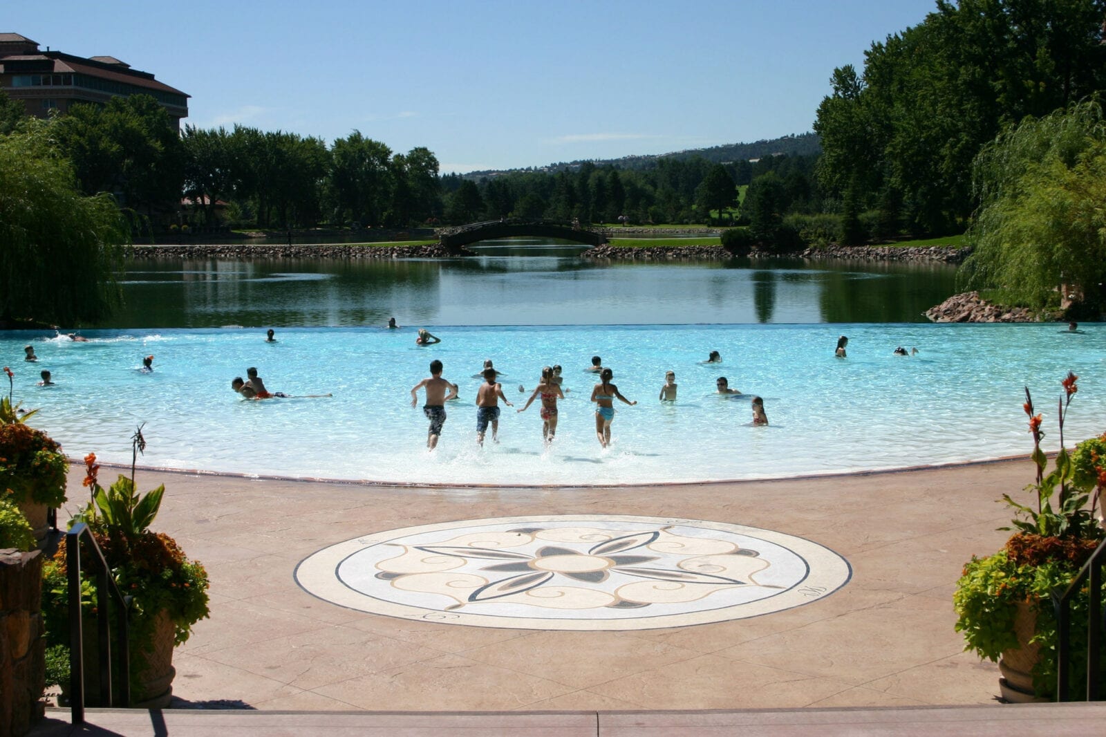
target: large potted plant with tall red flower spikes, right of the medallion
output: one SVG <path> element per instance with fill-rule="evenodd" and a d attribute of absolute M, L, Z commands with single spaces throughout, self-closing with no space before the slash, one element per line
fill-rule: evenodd
<path fill-rule="evenodd" d="M 966 640 L 964 650 L 999 662 L 999 685 L 1006 700 L 1052 700 L 1056 697 L 1056 617 L 1053 594 L 1063 593 L 1104 539 L 1098 510 L 1106 488 L 1104 438 L 1079 444 L 1075 456 L 1064 447 L 1064 418 L 1078 391 L 1078 377 L 1068 372 L 1061 382 L 1060 451 L 1053 469 L 1041 449 L 1044 432 L 1041 415 L 1033 409 L 1025 388 L 1025 413 L 1033 435 L 1031 458 L 1036 480 L 1025 487 L 1035 506 L 1025 506 L 1004 494 L 1014 510 L 1013 534 L 1001 550 L 987 558 L 972 557 L 957 582 L 953 604 L 956 629 Z M 1076 469 L 1082 469 L 1076 473 Z M 1072 621 L 1086 622 L 1088 589 L 1072 604 Z M 1086 632 L 1072 629 L 1073 682 L 1085 678 Z"/>

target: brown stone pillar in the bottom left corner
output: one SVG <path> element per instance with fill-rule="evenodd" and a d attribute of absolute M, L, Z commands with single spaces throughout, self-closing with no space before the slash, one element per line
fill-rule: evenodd
<path fill-rule="evenodd" d="M 41 551 L 0 550 L 0 735 L 25 735 L 43 715 L 41 610 Z"/>

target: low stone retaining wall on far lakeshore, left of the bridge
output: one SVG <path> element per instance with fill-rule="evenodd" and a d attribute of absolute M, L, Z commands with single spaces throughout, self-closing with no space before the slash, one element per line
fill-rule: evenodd
<path fill-rule="evenodd" d="M 449 256 L 445 248 L 430 246 L 132 246 L 137 259 L 415 259 Z"/>

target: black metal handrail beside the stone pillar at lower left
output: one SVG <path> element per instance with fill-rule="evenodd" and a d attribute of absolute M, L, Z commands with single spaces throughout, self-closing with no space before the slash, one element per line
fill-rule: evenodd
<path fill-rule="evenodd" d="M 112 706 L 112 643 L 108 636 L 109 620 L 107 606 L 114 600 L 119 608 L 116 635 L 119 641 L 119 661 L 123 665 L 123 683 L 119 685 L 119 700 L 115 706 L 131 705 L 131 644 L 129 616 L 131 596 L 123 592 L 112 578 L 112 571 L 104 560 L 104 553 L 92 530 L 79 522 L 65 533 L 65 565 L 69 582 L 70 611 L 70 720 L 84 723 L 84 625 L 81 614 L 81 540 L 91 543 L 92 564 L 96 569 L 96 632 L 100 642 L 100 700 Z"/>

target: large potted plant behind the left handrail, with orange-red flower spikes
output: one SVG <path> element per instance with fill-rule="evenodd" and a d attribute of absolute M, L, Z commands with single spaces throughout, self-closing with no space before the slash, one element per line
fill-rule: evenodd
<path fill-rule="evenodd" d="M 145 447 L 142 428 L 133 439 L 135 456 Z M 173 648 L 188 640 L 192 625 L 208 616 L 208 578 L 202 564 L 189 560 L 177 542 L 149 526 L 157 517 L 165 485 L 139 494 L 131 477 L 119 475 L 106 489 L 100 485 L 96 456 L 85 459 L 84 486 L 92 501 L 70 526 L 88 526 L 119 589 L 133 598 L 129 610 L 132 706 L 161 708 L 173 697 Z M 69 646 L 65 543 L 43 571 L 43 612 L 48 643 L 56 654 Z M 82 581 L 82 609 L 94 611 L 93 581 Z M 86 620 L 90 621 L 91 620 Z M 93 630 L 88 630 L 90 632 Z M 114 630 L 113 630 L 114 632 Z M 95 637 L 85 639 L 85 663 L 95 663 Z M 91 648 L 91 650 L 90 650 Z M 118 652 L 113 648 L 113 652 Z M 67 683 L 59 684 L 64 691 Z M 85 693 L 98 691 L 95 668 L 85 667 Z"/>

